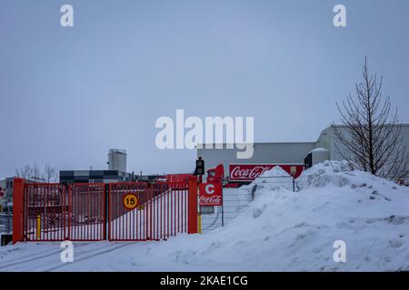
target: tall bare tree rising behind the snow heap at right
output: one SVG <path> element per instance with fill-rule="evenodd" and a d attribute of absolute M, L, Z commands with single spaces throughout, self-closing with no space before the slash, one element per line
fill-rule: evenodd
<path fill-rule="evenodd" d="M 345 150 L 338 153 L 364 171 L 387 179 L 407 175 L 408 154 L 403 144 L 397 109 L 390 97 L 383 97 L 381 77 L 370 74 L 366 57 L 364 80 L 355 84 L 355 96 L 348 95 L 342 105 L 336 103 L 343 126 L 333 124 L 335 137 Z M 344 129 L 344 131 L 342 130 Z"/>

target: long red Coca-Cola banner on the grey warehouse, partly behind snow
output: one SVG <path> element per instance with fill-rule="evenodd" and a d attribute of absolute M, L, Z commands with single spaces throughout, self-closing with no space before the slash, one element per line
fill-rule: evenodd
<path fill-rule="evenodd" d="M 298 178 L 303 172 L 303 164 L 230 164 L 230 181 L 253 181 L 262 175 L 265 171 L 273 169 L 274 166 L 280 166 L 288 174 Z"/>

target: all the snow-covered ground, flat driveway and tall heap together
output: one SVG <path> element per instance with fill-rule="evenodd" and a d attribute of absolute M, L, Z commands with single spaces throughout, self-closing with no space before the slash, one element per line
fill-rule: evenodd
<path fill-rule="evenodd" d="M 74 263 L 60 262 L 58 243 L 0 247 L 0 271 L 409 270 L 408 188 L 343 162 L 324 162 L 304 179 L 295 193 L 259 189 L 243 214 L 204 235 L 75 243 Z M 346 243 L 345 263 L 334 262 L 335 240 Z"/>

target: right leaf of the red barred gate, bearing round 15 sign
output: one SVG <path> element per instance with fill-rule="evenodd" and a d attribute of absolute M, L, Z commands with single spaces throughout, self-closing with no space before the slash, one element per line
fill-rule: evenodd
<path fill-rule="evenodd" d="M 160 240 L 187 233 L 188 182 L 109 185 L 110 240 Z M 125 198 L 135 195 L 135 208 Z"/>

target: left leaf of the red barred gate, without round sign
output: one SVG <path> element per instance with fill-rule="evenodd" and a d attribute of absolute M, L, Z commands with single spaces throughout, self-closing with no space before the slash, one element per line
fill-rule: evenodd
<path fill-rule="evenodd" d="M 27 183 L 23 238 L 27 241 L 104 239 L 105 185 Z"/>

